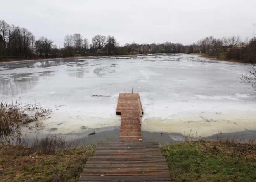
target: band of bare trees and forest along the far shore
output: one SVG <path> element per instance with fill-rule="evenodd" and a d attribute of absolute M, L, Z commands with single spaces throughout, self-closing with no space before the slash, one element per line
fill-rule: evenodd
<path fill-rule="evenodd" d="M 255 25 L 254 25 L 255 26 Z M 246 63 L 256 63 L 256 37 L 213 36 L 203 38 L 191 45 L 165 42 L 161 44 L 126 43 L 120 46 L 114 36 L 96 35 L 89 43 L 81 34 L 66 35 L 62 48 L 47 37 L 36 37 L 26 28 L 9 25 L 0 20 L 0 57 L 43 58 L 127 55 L 154 53 L 205 53 L 209 57 L 235 59 Z"/>

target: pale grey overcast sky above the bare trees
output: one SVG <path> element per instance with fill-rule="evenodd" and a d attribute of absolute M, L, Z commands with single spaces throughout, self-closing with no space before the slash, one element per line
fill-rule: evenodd
<path fill-rule="evenodd" d="M 66 34 L 80 33 L 91 42 L 97 34 L 125 43 L 192 44 L 256 32 L 256 0 L 5 0 L 0 20 L 25 27 L 58 47 Z"/>

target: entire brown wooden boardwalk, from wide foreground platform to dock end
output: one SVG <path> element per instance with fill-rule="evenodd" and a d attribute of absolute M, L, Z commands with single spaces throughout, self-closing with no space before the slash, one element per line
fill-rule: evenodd
<path fill-rule="evenodd" d="M 119 142 L 98 143 L 79 181 L 171 181 L 159 143 L 141 142 L 139 94 L 120 93 L 116 114 L 121 115 Z"/>

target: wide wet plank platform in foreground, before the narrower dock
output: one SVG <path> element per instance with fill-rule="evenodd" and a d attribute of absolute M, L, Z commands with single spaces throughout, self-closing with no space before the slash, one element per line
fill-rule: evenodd
<path fill-rule="evenodd" d="M 79 181 L 171 181 L 157 142 L 98 143 Z"/>

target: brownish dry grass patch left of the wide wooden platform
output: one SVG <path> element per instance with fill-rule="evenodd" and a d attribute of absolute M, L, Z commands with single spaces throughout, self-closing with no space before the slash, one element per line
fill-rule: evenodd
<path fill-rule="evenodd" d="M 88 146 L 60 150 L 59 155 L 38 155 L 33 149 L 21 145 L 2 145 L 0 146 L 0 180 L 4 182 L 78 181 L 88 157 L 93 155 L 94 150 L 95 146 Z"/>

